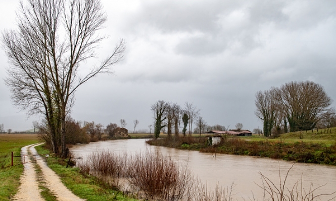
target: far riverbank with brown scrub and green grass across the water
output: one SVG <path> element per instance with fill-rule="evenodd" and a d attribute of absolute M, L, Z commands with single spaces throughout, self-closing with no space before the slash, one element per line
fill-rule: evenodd
<path fill-rule="evenodd" d="M 277 139 L 239 138 L 223 136 L 221 142 L 208 146 L 208 138 L 172 138 L 150 140 L 147 143 L 175 149 L 269 157 L 303 163 L 336 165 L 336 129 L 286 133 Z"/>

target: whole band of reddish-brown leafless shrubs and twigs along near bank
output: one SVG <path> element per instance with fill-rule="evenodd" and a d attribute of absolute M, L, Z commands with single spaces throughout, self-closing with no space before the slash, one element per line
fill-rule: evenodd
<path fill-rule="evenodd" d="M 96 151 L 78 167 L 83 175 L 94 175 L 106 185 L 122 188 L 123 193 L 141 200 L 238 200 L 233 196 L 233 183 L 227 188 L 220 187 L 218 183 L 211 188 L 209 183 L 198 180 L 190 172 L 187 164 L 177 164 L 160 152 L 147 150 L 129 156 L 125 152 L 118 155 L 106 150 Z M 326 195 L 329 195 L 329 200 L 335 198 L 336 192 L 315 193 L 323 185 L 318 187 L 311 185 L 309 189 L 304 189 L 301 180 L 293 186 L 288 186 L 286 180 L 292 167 L 284 179 L 279 176 L 279 184 L 275 184 L 277 182 L 260 173 L 262 184 L 257 185 L 264 191 L 262 200 L 312 201 L 321 200 Z M 254 197 L 251 200 L 256 201 Z"/>

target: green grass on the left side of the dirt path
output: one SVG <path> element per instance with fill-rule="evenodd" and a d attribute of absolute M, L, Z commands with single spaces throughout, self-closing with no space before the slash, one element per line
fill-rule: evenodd
<path fill-rule="evenodd" d="M 0 200 L 9 200 L 18 191 L 23 172 L 20 157 L 14 157 L 11 166 L 11 152 L 20 156 L 22 147 L 35 143 L 38 143 L 37 135 L 0 134 Z"/>

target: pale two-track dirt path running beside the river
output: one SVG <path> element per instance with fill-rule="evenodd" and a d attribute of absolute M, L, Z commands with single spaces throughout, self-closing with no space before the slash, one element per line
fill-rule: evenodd
<path fill-rule="evenodd" d="M 24 147 L 25 149 L 22 148 L 22 150 L 25 150 L 25 153 L 26 152 L 30 153 L 30 155 L 38 155 L 34 148 L 38 145 L 40 144 L 27 146 Z M 23 155 L 22 152 L 21 155 Z M 38 161 L 37 164 L 40 166 L 42 170 L 43 179 L 44 182 L 46 182 L 45 187 L 49 188 L 52 191 L 52 193 L 57 197 L 57 200 L 59 201 L 84 200 L 73 194 L 68 188 L 65 187 L 65 185 L 61 182 L 60 177 L 46 165 L 41 156 L 36 156 L 35 158 Z M 24 168 L 24 175 L 22 176 L 21 179 L 22 184 L 20 186 L 19 193 L 17 193 L 14 196 L 13 200 L 43 200 L 39 193 L 40 190 L 38 189 L 38 182 L 35 169 L 33 167 L 33 163 L 26 163 L 26 164 Z"/>

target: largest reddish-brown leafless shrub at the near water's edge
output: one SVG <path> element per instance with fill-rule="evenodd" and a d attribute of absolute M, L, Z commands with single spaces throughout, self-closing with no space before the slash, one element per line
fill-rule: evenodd
<path fill-rule="evenodd" d="M 147 150 L 131 163 L 129 183 L 150 199 L 191 200 L 196 179 L 187 165 L 179 167 L 170 157 Z"/>

